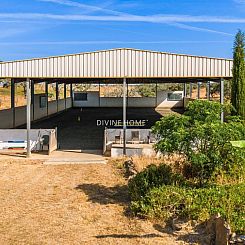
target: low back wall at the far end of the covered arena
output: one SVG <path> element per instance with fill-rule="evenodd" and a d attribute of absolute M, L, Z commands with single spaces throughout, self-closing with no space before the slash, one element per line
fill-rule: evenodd
<path fill-rule="evenodd" d="M 172 91 L 158 91 L 156 97 L 129 97 L 128 107 L 157 107 L 157 108 L 173 108 L 183 107 L 183 100 L 168 101 L 167 95 Z M 181 93 L 183 91 L 174 91 L 173 93 Z M 87 101 L 74 101 L 74 107 L 122 107 L 123 98 L 121 97 L 99 97 L 99 92 L 88 92 Z M 74 96 L 73 96 L 74 97 Z"/>

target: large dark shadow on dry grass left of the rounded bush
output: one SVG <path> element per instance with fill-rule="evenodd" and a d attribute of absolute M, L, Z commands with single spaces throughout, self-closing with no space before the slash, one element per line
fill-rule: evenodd
<path fill-rule="evenodd" d="M 108 187 L 100 184 L 81 184 L 75 189 L 84 192 L 93 203 L 127 205 L 130 202 L 126 185 Z"/>

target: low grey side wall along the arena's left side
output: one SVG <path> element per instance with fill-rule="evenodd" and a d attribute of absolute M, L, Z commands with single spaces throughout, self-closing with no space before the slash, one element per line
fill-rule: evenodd
<path fill-rule="evenodd" d="M 48 102 L 48 108 L 40 108 L 40 96 L 45 94 L 36 94 L 34 96 L 34 113 L 33 105 L 31 106 L 31 119 L 32 121 L 38 120 L 57 112 L 72 107 L 72 99 L 67 98 Z M 58 104 L 57 104 L 58 103 Z M 33 118 L 34 116 L 34 118 Z M 15 126 L 14 126 L 15 119 Z M 26 123 L 26 106 L 16 107 L 15 109 L 0 110 L 0 129 L 7 129 L 18 127 Z"/>

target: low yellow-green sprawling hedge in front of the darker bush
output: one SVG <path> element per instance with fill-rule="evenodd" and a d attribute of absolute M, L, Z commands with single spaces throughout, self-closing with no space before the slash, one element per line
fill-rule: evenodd
<path fill-rule="evenodd" d="M 135 214 L 150 218 L 181 217 L 205 221 L 220 213 L 233 231 L 245 232 L 245 184 L 189 188 L 155 187 L 144 197 L 132 201 Z"/>

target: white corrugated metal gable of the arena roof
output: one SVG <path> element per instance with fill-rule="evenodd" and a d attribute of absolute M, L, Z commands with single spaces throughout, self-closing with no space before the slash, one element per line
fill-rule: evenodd
<path fill-rule="evenodd" d="M 0 63 L 0 78 L 230 78 L 231 59 L 129 48 Z"/>

